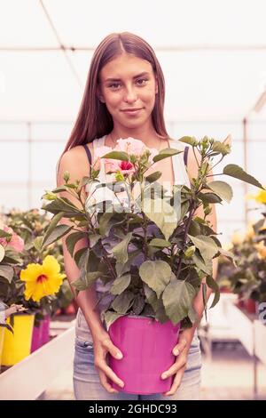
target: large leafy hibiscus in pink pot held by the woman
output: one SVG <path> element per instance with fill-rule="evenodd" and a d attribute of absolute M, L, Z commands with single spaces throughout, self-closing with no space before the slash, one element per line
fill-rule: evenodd
<path fill-rule="evenodd" d="M 114 149 L 106 148 L 101 156 L 110 176 L 106 183 L 98 180 L 95 163 L 89 177 L 70 183 L 66 172 L 65 184 L 43 195 L 48 201 L 43 209 L 54 216 L 42 245 L 68 234 L 67 249 L 81 271 L 72 285 L 82 291 L 99 280 L 107 287 L 98 301 L 101 318 L 113 342 L 126 353 L 120 361 L 110 359 L 113 371 L 125 382 L 123 389 L 114 387 L 130 393 L 169 389 L 171 379 L 160 380 L 160 373 L 175 361 L 172 349 L 180 327 L 192 326 L 196 320 L 192 307 L 196 294 L 202 288 L 205 300 L 209 286 L 215 291 L 212 306 L 219 300 L 212 261 L 220 254 L 233 260 L 206 219 L 211 204 L 231 200 L 228 183 L 208 180 L 213 158 L 220 157 L 221 162 L 231 146 L 207 137 L 179 141 L 200 152 L 198 177 L 192 179 L 191 187 L 175 184 L 171 190 L 165 189 L 158 181 L 161 173 L 154 170 L 158 161 L 182 150 L 158 152 L 129 138 L 118 140 Z M 223 174 L 262 188 L 238 165 L 226 165 Z M 83 187 L 88 193 L 85 201 Z M 98 189 L 106 191 L 101 201 Z M 82 205 L 77 207 L 60 197 L 61 191 L 69 192 Z M 204 218 L 195 214 L 200 206 Z M 73 226 L 62 224 L 62 218 L 69 218 Z M 82 237 L 88 238 L 89 246 L 75 252 Z M 207 285 L 202 283 L 204 277 Z M 154 355 L 161 358 L 156 366 L 148 361 Z M 147 381 L 148 374 L 153 378 Z"/>

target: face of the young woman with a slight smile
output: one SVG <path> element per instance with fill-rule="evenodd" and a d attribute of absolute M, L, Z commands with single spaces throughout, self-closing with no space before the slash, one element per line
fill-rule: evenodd
<path fill-rule="evenodd" d="M 113 125 L 145 124 L 151 119 L 157 92 L 153 67 L 147 60 L 123 53 L 100 71 L 98 97 L 106 103 Z M 140 110 L 127 113 L 125 109 Z"/>

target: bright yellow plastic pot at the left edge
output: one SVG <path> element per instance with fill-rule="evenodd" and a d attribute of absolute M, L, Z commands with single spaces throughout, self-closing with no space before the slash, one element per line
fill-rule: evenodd
<path fill-rule="evenodd" d="M 34 321 L 34 314 L 14 315 L 14 334 L 7 329 L 4 330 L 4 346 L 1 363 L 3 366 L 15 365 L 30 354 Z M 10 324 L 10 318 L 7 318 L 6 322 Z"/>

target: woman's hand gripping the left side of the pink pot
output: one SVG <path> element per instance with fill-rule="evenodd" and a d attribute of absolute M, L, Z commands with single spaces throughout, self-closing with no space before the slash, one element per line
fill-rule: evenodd
<path fill-rule="evenodd" d="M 121 351 L 113 345 L 108 333 L 102 334 L 98 338 L 94 338 L 94 365 L 98 370 L 99 380 L 107 392 L 119 393 L 118 390 L 112 388 L 111 384 L 108 382 L 108 378 L 118 386 L 121 386 L 121 388 L 123 388 L 124 382 L 122 382 L 121 379 L 113 373 L 111 367 L 108 366 L 106 362 L 106 355 L 108 353 L 118 360 L 121 360 L 122 358 Z"/>

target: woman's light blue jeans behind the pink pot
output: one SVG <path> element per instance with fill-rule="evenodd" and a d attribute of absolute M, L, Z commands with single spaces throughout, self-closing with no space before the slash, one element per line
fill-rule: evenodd
<path fill-rule="evenodd" d="M 200 398 L 200 341 L 195 334 L 188 354 L 186 370 L 181 385 L 172 396 L 160 393 L 133 395 L 130 393 L 109 393 L 101 385 L 98 371 L 94 366 L 93 341 L 90 328 L 78 310 L 75 325 L 74 347 L 74 396 L 78 400 L 187 400 Z"/>

